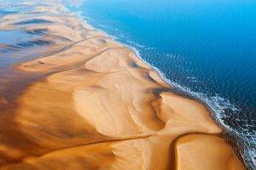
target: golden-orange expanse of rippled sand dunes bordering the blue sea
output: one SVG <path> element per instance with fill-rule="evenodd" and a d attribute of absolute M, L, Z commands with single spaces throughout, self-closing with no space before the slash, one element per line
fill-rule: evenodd
<path fill-rule="evenodd" d="M 47 30 L 61 46 L 16 66 L 44 78 L 1 111 L 0 169 L 243 169 L 204 105 L 61 4 L 0 29 Z"/>

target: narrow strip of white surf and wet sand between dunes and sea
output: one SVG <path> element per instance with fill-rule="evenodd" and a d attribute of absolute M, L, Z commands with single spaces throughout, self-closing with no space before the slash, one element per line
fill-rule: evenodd
<path fill-rule="evenodd" d="M 64 7 L 64 8 L 67 9 L 67 7 Z M 224 138 L 225 141 L 232 146 L 234 152 L 236 153 L 236 156 L 238 156 L 238 158 L 242 162 L 244 168 L 248 169 L 249 167 L 251 167 L 251 165 L 247 164 L 247 162 L 244 160 L 243 156 L 245 156 L 245 155 L 243 155 L 243 153 L 242 153 L 242 151 L 244 151 L 244 150 L 241 149 L 241 141 L 240 141 L 241 139 L 237 136 L 236 131 L 234 131 L 232 128 L 227 126 L 221 120 L 222 108 L 221 108 L 221 106 L 219 106 L 217 101 L 214 101 L 213 99 L 209 99 L 205 94 L 203 94 L 201 92 L 192 91 L 188 87 L 183 87 L 183 86 L 177 84 L 176 82 L 172 82 L 165 76 L 165 74 L 162 71 L 160 71 L 160 69 L 158 69 L 154 65 L 151 65 L 146 60 L 144 60 L 143 57 L 141 56 L 139 50 L 136 47 L 126 44 L 125 42 L 120 42 L 119 37 L 109 35 L 107 32 L 92 26 L 92 24 L 90 24 L 90 21 L 84 20 L 82 14 L 77 14 L 75 12 L 71 12 L 69 9 L 67 9 L 67 11 L 75 14 L 82 22 L 84 22 L 86 25 L 90 25 L 96 31 L 100 31 L 103 34 L 106 34 L 113 41 L 119 43 L 120 45 L 125 46 L 126 48 L 130 48 L 137 55 L 138 59 L 142 60 L 143 63 L 145 65 L 148 65 L 152 70 L 156 71 L 158 76 L 160 77 L 160 79 L 163 82 L 166 82 L 170 86 L 169 88 L 172 88 L 172 93 L 183 96 L 185 98 L 193 99 L 197 102 L 200 102 L 202 105 L 204 105 L 207 108 L 207 111 L 209 111 L 211 113 L 210 115 L 212 117 L 212 120 L 214 122 L 216 122 L 219 127 L 221 127 L 223 129 L 223 132 L 219 133 L 218 135 L 221 136 L 221 138 Z M 218 97 L 219 96 L 217 96 L 217 98 Z M 222 98 L 222 97 L 220 97 L 220 98 Z M 240 111 L 239 109 L 236 108 L 235 105 L 233 105 L 233 104 L 230 104 L 230 105 L 232 105 L 232 108 L 231 108 L 232 110 Z M 225 107 L 227 107 L 227 106 L 225 106 Z"/>

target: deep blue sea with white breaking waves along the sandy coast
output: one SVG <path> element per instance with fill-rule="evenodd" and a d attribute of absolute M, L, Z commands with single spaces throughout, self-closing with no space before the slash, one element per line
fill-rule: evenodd
<path fill-rule="evenodd" d="M 238 139 L 247 166 L 256 168 L 255 0 L 73 4 L 67 3 L 67 8 L 136 48 L 172 85 L 207 103 Z"/>

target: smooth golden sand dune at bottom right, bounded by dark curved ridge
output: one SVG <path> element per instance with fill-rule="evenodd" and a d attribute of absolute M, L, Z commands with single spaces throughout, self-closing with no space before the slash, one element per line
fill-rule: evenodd
<path fill-rule="evenodd" d="M 185 135 L 177 139 L 175 150 L 177 169 L 242 169 L 230 146 L 216 136 Z"/>

